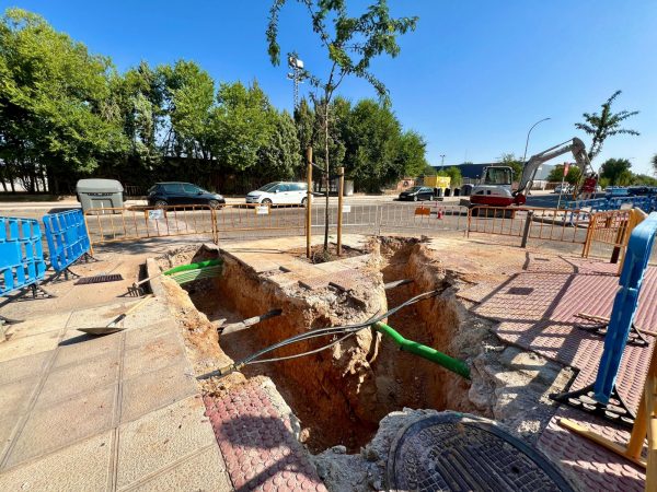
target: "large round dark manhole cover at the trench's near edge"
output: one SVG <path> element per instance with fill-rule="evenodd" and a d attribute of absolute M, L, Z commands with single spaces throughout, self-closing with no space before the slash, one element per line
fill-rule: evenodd
<path fill-rule="evenodd" d="M 430 415 L 400 431 L 388 457 L 391 491 L 572 491 L 538 452 L 494 422 Z"/>

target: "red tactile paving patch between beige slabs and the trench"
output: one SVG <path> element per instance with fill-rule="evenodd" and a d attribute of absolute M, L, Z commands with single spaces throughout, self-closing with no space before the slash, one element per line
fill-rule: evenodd
<path fill-rule="evenodd" d="M 326 491 L 289 420 L 257 383 L 204 400 L 237 490 Z"/>

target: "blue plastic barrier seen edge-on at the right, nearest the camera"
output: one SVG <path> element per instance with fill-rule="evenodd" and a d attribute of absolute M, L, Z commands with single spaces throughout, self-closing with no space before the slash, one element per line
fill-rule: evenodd
<path fill-rule="evenodd" d="M 623 351 L 636 314 L 641 284 L 650 259 L 656 233 L 657 212 L 653 212 L 645 221 L 634 227 L 630 236 L 623 271 L 619 280 L 620 289 L 613 301 L 609 328 L 604 337 L 604 350 L 593 385 L 595 398 L 601 403 L 609 402 L 614 388 Z"/>

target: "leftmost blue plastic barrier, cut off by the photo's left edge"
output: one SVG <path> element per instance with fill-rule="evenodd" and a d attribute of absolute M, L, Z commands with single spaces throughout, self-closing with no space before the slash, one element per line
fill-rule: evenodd
<path fill-rule="evenodd" d="M 36 285 L 45 274 L 38 222 L 0 216 L 0 295 Z"/>

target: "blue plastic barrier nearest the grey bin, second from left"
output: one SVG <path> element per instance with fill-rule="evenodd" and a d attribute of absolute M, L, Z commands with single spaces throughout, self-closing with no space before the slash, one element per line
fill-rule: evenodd
<path fill-rule="evenodd" d="M 50 265 L 58 273 L 78 261 L 91 247 L 82 210 L 44 215 Z"/>

